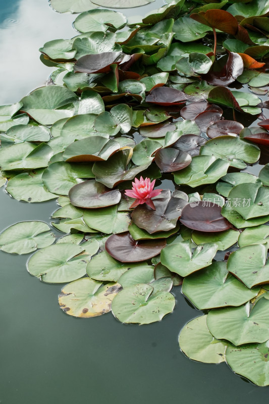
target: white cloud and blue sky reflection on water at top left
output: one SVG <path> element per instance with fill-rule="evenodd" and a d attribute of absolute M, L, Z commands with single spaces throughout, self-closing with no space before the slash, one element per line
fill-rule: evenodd
<path fill-rule="evenodd" d="M 39 47 L 49 40 L 74 36 L 74 15 L 55 13 L 44 0 L 21 0 L 3 7 L 0 20 L 0 105 L 15 103 L 43 85 L 51 72 Z M 2 3 L 0 4 L 2 8 Z"/>

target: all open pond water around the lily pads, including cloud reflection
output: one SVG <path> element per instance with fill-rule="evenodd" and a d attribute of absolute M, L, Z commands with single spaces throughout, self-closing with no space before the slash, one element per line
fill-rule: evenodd
<path fill-rule="evenodd" d="M 160 4 L 124 13 L 144 14 Z M 1 0 L 0 7 L 0 104 L 7 104 L 44 84 L 50 71 L 38 48 L 74 36 L 74 16 L 53 12 L 46 0 Z M 24 220 L 48 222 L 57 204 L 22 203 L 1 190 L 0 207 L 2 230 Z M 27 256 L 0 251 L 0 260 L 0 403 L 248 404 L 267 398 L 268 387 L 235 376 L 226 364 L 196 363 L 180 352 L 180 329 L 201 313 L 180 288 L 173 289 L 176 310 L 159 323 L 123 325 L 112 315 L 75 319 L 59 308 L 60 285 L 27 273 Z"/>

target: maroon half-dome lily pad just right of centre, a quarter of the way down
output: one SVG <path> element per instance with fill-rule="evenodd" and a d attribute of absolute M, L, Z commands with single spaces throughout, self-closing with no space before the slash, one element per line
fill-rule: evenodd
<path fill-rule="evenodd" d="M 156 87 L 146 97 L 147 103 L 163 106 L 181 105 L 186 103 L 184 92 L 172 87 Z"/>

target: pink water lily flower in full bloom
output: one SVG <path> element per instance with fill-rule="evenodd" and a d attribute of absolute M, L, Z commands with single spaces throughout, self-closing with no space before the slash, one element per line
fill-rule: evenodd
<path fill-rule="evenodd" d="M 131 198 L 135 198 L 134 203 L 130 206 L 130 208 L 135 208 L 140 204 L 147 204 L 150 208 L 154 209 L 155 206 L 151 200 L 153 196 L 157 196 L 162 192 L 163 189 L 155 189 L 155 180 L 150 182 L 149 178 L 143 179 L 140 177 L 140 180 L 135 178 L 135 182 L 132 182 L 132 189 L 126 189 L 125 195 L 130 196 Z"/>

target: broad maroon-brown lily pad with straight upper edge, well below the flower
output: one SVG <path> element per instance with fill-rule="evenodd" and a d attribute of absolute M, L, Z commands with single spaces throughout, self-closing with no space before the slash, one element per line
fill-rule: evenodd
<path fill-rule="evenodd" d="M 134 240 L 129 232 L 113 234 L 105 242 L 106 251 L 120 262 L 141 262 L 157 256 L 166 246 L 165 239 Z"/>

